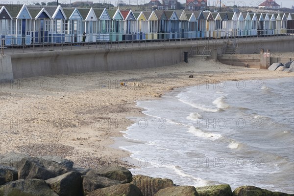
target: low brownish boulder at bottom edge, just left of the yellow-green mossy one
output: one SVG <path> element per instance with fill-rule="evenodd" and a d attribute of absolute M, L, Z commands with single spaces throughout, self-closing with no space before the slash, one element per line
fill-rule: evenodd
<path fill-rule="evenodd" d="M 161 189 L 154 196 L 198 196 L 198 194 L 194 186 L 176 186 Z"/>

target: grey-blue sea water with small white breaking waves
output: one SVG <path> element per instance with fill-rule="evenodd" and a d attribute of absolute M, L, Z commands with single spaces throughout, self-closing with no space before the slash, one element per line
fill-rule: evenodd
<path fill-rule="evenodd" d="M 202 81 L 137 106 L 121 147 L 133 174 L 294 193 L 294 78 Z"/>

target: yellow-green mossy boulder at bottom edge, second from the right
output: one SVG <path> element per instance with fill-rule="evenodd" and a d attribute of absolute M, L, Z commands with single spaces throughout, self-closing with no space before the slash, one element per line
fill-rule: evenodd
<path fill-rule="evenodd" d="M 231 196 L 232 195 L 231 187 L 228 184 L 197 187 L 196 190 L 199 196 Z"/>

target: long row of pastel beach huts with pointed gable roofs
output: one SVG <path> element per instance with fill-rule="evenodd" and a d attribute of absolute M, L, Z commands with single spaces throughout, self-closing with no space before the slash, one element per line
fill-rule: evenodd
<path fill-rule="evenodd" d="M 2 5 L 5 45 L 223 38 L 294 33 L 294 14 L 143 11 Z"/>

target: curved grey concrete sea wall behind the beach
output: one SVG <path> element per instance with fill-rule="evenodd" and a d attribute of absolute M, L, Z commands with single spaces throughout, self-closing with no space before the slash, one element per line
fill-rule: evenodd
<path fill-rule="evenodd" d="M 262 48 L 270 49 L 272 52 L 294 51 L 293 37 L 265 40 L 257 38 L 237 39 L 236 41 L 239 46 L 238 54 L 259 54 Z M 129 47 L 16 53 L 10 56 L 13 77 L 24 78 L 174 65 L 184 60 L 183 52 L 190 51 L 192 46 L 198 46 L 200 52 L 203 51 L 205 46 L 209 46 L 213 53 L 222 54 L 226 43 L 227 40 L 202 40 L 196 43 L 187 41 L 187 44 L 183 42 L 181 44 L 164 42 L 147 46 L 145 44 L 143 46 L 129 44 Z M 213 56 L 215 55 L 213 54 Z"/>

